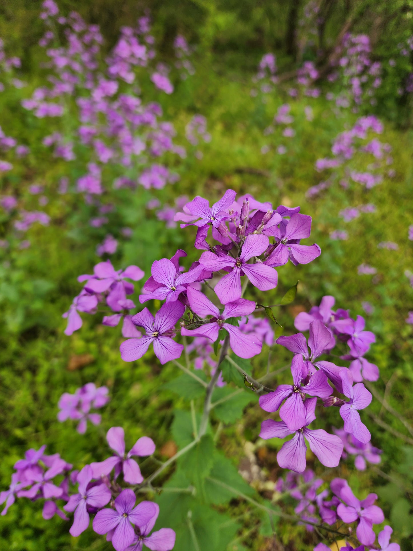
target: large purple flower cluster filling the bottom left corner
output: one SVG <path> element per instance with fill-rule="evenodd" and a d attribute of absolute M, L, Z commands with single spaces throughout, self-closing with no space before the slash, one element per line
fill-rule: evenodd
<path fill-rule="evenodd" d="M 90 392 L 91 388 L 85 391 L 86 387 L 88 385 L 79 391 Z M 98 403 L 105 399 L 105 393 L 99 392 L 102 388 L 94 389 L 95 401 L 100 400 Z M 153 455 L 153 440 L 142 436 L 126 453 L 124 431 L 120 426 L 109 429 L 106 437 L 115 455 L 102 462 L 86 464 L 80 471 L 72 471 L 72 465 L 58 453 L 45 455 L 46 446 L 37 451 L 28 450 L 25 458 L 14 465 L 16 472 L 9 490 L 0 494 L 0 504 L 6 502 L 2 515 L 6 515 L 16 497 L 31 501 L 42 499 L 45 500 L 45 520 L 57 514 L 68 521 L 57 505 L 58 501 L 63 501 L 66 502 L 64 511 L 73 512 L 69 532 L 74 537 L 89 528 L 90 515 L 94 515 L 93 530 L 97 534 L 107 534 L 107 541 L 112 542 L 116 551 L 141 551 L 143 544 L 153 551 L 170 551 L 175 545 L 175 532 L 171 528 L 161 528 L 150 534 L 159 515 L 159 506 L 152 501 L 140 501 L 135 506 L 134 491 L 121 485 L 144 482 L 139 465 L 132 457 Z M 121 474 L 122 482 L 119 482 Z"/>

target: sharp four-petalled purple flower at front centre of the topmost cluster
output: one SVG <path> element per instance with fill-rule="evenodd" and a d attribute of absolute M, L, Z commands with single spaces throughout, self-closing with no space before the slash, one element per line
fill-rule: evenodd
<path fill-rule="evenodd" d="M 247 235 L 242 245 L 240 256 L 219 257 L 213 252 L 202 253 L 199 262 L 205 269 L 218 271 L 226 269 L 232 271 L 215 285 L 215 293 L 222 304 L 233 302 L 241 297 L 241 276 L 247 276 L 249 281 L 261 291 L 274 289 L 277 285 L 278 274 L 269 266 L 263 263 L 248 264 L 250 258 L 261 255 L 268 247 L 269 240 L 266 235 Z"/>

